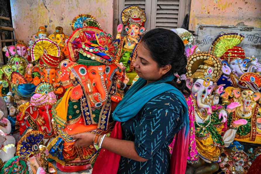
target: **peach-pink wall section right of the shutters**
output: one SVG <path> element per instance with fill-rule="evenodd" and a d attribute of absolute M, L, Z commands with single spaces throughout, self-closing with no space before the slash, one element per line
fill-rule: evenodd
<path fill-rule="evenodd" d="M 192 0 L 189 29 L 197 24 L 244 25 L 261 28 L 260 0 Z"/>

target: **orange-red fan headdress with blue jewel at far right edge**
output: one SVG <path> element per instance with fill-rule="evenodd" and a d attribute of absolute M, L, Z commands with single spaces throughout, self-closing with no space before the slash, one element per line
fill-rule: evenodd
<path fill-rule="evenodd" d="M 237 86 L 242 90 L 252 90 L 257 93 L 261 90 L 261 76 L 252 72 L 243 74 Z"/>

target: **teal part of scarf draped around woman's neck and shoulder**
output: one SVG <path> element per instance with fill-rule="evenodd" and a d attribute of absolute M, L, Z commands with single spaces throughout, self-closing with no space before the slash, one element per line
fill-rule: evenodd
<path fill-rule="evenodd" d="M 144 86 L 147 81 L 140 78 L 127 91 L 124 98 L 117 105 L 113 112 L 113 119 L 119 122 L 126 122 L 135 117 L 143 106 L 152 98 L 164 92 L 171 92 L 176 95 L 178 100 L 184 108 L 184 124 L 186 127 L 185 136 L 188 134 L 189 120 L 188 120 L 188 105 L 183 94 L 174 86 L 166 82 L 172 81 L 174 76 L 167 76 L 159 81 L 152 82 Z"/>

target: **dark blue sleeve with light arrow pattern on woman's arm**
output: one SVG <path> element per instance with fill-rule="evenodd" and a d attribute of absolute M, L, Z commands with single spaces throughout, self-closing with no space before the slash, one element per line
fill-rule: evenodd
<path fill-rule="evenodd" d="M 175 96 L 163 95 L 150 100 L 135 128 L 138 155 L 150 159 L 162 146 L 168 146 L 181 129 L 180 115 L 183 115 L 182 104 Z"/>

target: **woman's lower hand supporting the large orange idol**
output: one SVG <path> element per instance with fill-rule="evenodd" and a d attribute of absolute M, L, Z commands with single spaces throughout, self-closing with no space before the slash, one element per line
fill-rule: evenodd
<path fill-rule="evenodd" d="M 90 132 L 85 132 L 81 134 L 76 134 L 72 136 L 73 139 L 75 139 L 74 146 L 80 146 L 80 147 L 89 147 L 93 144 L 93 141 L 95 139 L 95 134 Z"/>

